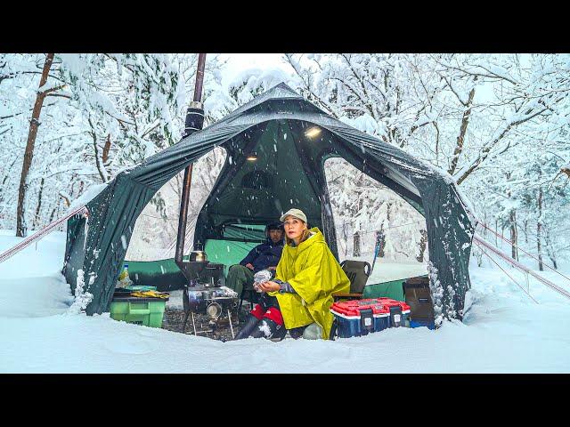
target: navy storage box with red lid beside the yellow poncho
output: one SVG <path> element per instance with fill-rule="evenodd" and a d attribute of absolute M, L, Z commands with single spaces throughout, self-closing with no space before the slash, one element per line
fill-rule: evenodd
<path fill-rule="evenodd" d="M 410 306 L 390 298 L 335 302 L 330 312 L 337 321 L 340 338 L 362 336 L 388 327 L 408 326 Z"/>

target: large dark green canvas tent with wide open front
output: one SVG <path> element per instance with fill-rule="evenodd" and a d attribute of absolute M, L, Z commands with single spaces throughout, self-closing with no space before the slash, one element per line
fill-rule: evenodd
<path fill-rule="evenodd" d="M 449 177 L 330 117 L 285 84 L 119 173 L 87 204 L 88 223 L 69 220 L 63 273 L 75 288 L 77 271 L 84 271 L 85 291 L 93 294 L 87 314 L 109 310 L 134 222 L 144 206 L 176 173 L 217 146 L 228 156 L 199 214 L 195 242 L 256 241 L 260 224 L 294 206 L 305 211 L 310 225 L 322 230 L 337 254 L 323 165 L 329 157 L 343 157 L 424 215 L 436 314 L 462 318 L 473 227 Z M 208 256 L 216 261 L 210 252 Z"/>

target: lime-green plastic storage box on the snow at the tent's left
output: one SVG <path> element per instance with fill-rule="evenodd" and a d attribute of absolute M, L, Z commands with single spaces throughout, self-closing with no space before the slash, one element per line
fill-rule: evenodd
<path fill-rule="evenodd" d="M 161 327 L 168 298 L 115 296 L 110 302 L 110 318 L 137 325 Z"/>

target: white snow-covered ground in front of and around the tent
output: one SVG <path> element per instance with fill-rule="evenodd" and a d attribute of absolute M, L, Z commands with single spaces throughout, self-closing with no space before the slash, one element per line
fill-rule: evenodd
<path fill-rule="evenodd" d="M 11 234 L 0 231 L 0 252 L 20 240 Z M 109 313 L 73 314 L 60 273 L 64 247 L 64 234 L 54 233 L 0 264 L 0 373 L 570 372 L 570 301 L 532 281 L 537 304 L 501 270 L 475 263 L 464 323 L 335 342 L 219 342 L 118 322 Z M 556 273 L 543 275 L 570 288 Z"/>

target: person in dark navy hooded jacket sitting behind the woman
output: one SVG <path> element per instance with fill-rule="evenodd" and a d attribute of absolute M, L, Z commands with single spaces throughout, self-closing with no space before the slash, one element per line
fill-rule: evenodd
<path fill-rule="evenodd" d="M 267 241 L 257 245 L 239 264 L 228 270 L 225 286 L 241 295 L 244 288 L 251 289 L 253 275 L 260 270 L 275 270 L 283 250 L 283 224 L 272 222 L 265 227 Z"/>

